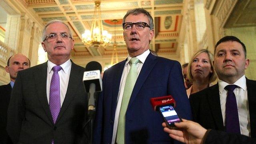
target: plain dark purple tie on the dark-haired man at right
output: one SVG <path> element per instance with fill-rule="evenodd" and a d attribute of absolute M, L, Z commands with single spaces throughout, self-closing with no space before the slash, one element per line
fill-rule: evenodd
<path fill-rule="evenodd" d="M 234 89 L 237 86 L 232 84 L 225 87 L 228 90 L 226 100 L 226 132 L 240 134 L 240 124 Z"/>

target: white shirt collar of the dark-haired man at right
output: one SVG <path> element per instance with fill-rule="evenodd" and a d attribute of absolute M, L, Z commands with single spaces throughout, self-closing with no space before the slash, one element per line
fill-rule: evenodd
<path fill-rule="evenodd" d="M 247 86 L 246 86 L 246 78 L 245 76 L 243 75 L 241 78 L 239 78 L 236 82 L 234 82 L 235 85 L 239 86 L 240 88 L 242 88 L 244 91 L 247 90 Z M 224 88 L 227 86 L 227 85 L 230 85 L 228 84 L 227 82 L 224 82 L 223 80 L 218 80 L 218 85 L 219 85 L 219 90 L 220 90 L 220 93 L 223 92 Z"/>

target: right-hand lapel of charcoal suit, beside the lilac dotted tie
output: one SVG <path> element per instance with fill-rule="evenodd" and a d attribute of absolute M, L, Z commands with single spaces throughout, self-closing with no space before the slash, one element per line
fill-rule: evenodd
<path fill-rule="evenodd" d="M 81 78 L 80 70 L 78 69 L 78 66 L 76 66 L 72 62 L 67 92 L 66 92 L 63 104 L 60 108 L 60 113 L 58 115 L 56 123 L 61 118 L 61 116 L 64 114 L 64 112 L 65 112 L 66 108 L 68 108 L 68 105 L 70 104 L 70 102 L 73 100 L 75 93 L 76 93 L 76 89 L 78 88 L 79 82 L 81 80 L 82 80 L 82 78 Z"/>

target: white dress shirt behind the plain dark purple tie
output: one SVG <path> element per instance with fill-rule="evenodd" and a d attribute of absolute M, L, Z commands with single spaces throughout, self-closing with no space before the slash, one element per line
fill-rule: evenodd
<path fill-rule="evenodd" d="M 238 86 L 234 90 L 234 94 L 236 96 L 241 134 L 250 136 L 250 114 L 249 114 L 249 103 L 248 103 L 245 76 L 242 76 L 234 84 Z M 227 98 L 228 91 L 225 90 L 224 88 L 229 84 L 222 80 L 218 80 L 218 85 L 219 85 L 219 92 L 220 92 L 220 107 L 222 112 L 223 123 L 225 125 L 226 98 Z"/>

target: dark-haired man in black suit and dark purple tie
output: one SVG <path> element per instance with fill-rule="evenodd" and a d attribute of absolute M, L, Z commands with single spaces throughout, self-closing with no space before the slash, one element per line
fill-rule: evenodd
<path fill-rule="evenodd" d="M 225 36 L 217 42 L 214 69 L 218 83 L 190 95 L 194 121 L 206 129 L 256 138 L 256 81 L 244 76 L 248 65 L 246 47 L 238 38 Z"/>

